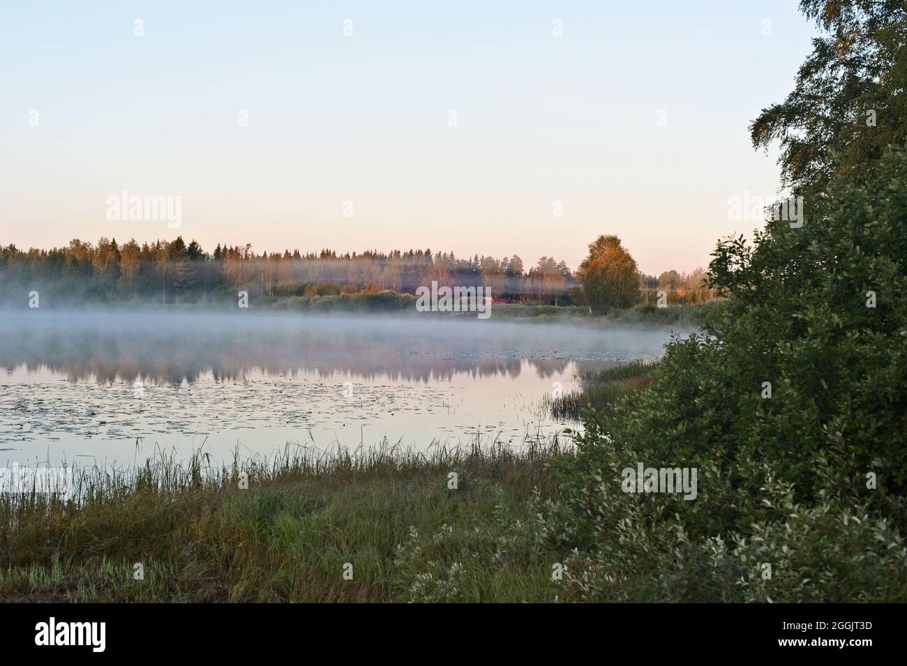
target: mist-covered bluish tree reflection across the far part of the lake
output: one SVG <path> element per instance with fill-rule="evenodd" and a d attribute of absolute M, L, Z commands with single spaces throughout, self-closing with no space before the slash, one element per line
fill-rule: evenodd
<path fill-rule="evenodd" d="M 18 313 L 0 324 L 0 367 L 18 378 L 44 369 L 70 381 L 152 381 L 179 386 L 203 375 L 337 370 L 356 378 L 437 381 L 456 374 L 540 377 L 570 362 L 580 372 L 660 352 L 660 329 L 594 331 L 546 324 L 438 319 L 224 314 Z M 24 372 L 22 372 L 24 370 Z"/>

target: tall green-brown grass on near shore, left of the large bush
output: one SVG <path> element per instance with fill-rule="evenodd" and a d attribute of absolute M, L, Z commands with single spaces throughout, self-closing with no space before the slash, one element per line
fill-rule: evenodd
<path fill-rule="evenodd" d="M 528 526 L 561 455 L 551 440 L 78 470 L 78 501 L 0 498 L 0 602 L 553 601 L 557 560 Z"/>

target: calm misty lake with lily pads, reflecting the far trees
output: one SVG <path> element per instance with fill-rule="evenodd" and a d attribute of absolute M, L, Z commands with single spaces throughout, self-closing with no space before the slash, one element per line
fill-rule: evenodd
<path fill-rule="evenodd" d="M 0 465 L 405 449 L 575 424 L 541 400 L 585 372 L 660 355 L 670 330 L 419 317 L 2 313 Z"/>

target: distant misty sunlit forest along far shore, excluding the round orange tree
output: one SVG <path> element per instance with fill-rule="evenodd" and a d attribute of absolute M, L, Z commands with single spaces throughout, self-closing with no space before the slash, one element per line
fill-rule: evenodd
<path fill-rule="evenodd" d="M 639 274 L 642 300 L 646 290 L 671 292 L 698 288 L 702 269 L 690 275 L 668 271 L 658 278 Z M 172 241 L 120 245 L 102 237 L 96 244 L 73 239 L 49 250 L 0 248 L 0 299 L 24 302 L 32 291 L 60 300 L 148 300 L 195 303 L 234 296 L 326 296 L 393 291 L 414 294 L 431 285 L 485 286 L 493 297 L 508 302 L 581 304 L 571 269 L 563 261 L 542 256 L 526 266 L 519 256 L 460 258 L 430 249 L 366 251 L 338 255 L 332 250 L 301 254 L 298 250 L 257 254 L 251 246 L 220 245 L 205 251 L 182 236 Z M 678 293 L 679 293 L 678 292 Z"/>

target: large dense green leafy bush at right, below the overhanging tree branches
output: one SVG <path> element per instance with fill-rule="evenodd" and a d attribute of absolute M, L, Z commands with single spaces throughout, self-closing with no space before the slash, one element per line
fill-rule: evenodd
<path fill-rule="evenodd" d="M 587 412 L 538 512 L 571 553 L 565 598 L 907 599 L 907 156 L 806 211 L 720 244 L 711 281 L 733 297 L 649 389 Z M 697 468 L 697 498 L 624 493 L 638 462 Z"/>

